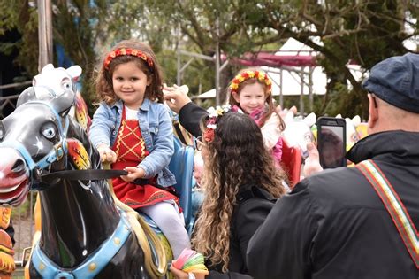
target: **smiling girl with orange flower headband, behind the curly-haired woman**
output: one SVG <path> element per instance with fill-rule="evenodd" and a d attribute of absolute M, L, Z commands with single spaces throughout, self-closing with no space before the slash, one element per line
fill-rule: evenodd
<path fill-rule="evenodd" d="M 262 70 L 248 68 L 237 74 L 228 87 L 233 111 L 245 112 L 262 130 L 263 143 L 279 166 L 282 157 L 284 120 L 277 112 L 272 97 L 272 81 Z"/>

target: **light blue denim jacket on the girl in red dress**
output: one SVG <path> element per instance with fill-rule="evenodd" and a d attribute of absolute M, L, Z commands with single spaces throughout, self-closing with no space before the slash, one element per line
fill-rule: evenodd
<path fill-rule="evenodd" d="M 114 105 L 101 103 L 93 116 L 89 131 L 90 141 L 97 147 L 105 143 L 110 147 L 115 143 L 122 122 L 122 101 Z M 149 156 L 137 167 L 145 171 L 145 178 L 157 174 L 157 184 L 163 187 L 176 184 L 176 179 L 168 168 L 174 152 L 171 118 L 163 104 L 145 98 L 137 113 L 142 137 Z"/>

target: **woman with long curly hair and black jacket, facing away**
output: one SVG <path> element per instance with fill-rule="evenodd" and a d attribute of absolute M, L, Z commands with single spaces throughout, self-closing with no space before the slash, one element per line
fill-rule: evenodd
<path fill-rule="evenodd" d="M 249 278 L 248 241 L 274 200 L 284 195 L 286 174 L 275 167 L 255 121 L 228 111 L 219 108 L 202 119 L 197 144 L 204 159 L 205 198 L 192 243 L 207 259 L 209 278 Z M 187 278 L 173 266 L 171 271 Z"/>

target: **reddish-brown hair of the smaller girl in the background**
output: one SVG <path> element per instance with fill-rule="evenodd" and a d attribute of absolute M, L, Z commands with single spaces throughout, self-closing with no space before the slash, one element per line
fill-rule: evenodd
<path fill-rule="evenodd" d="M 252 72 L 258 71 L 258 72 L 264 73 L 263 70 L 260 70 L 260 69 L 246 68 L 246 69 L 240 70 L 237 75 L 240 75 L 240 74 L 242 74 L 242 73 L 244 73 L 246 71 L 252 71 Z M 233 80 L 234 79 L 232 79 L 232 81 Z M 230 84 L 232 83 L 232 81 L 230 81 Z M 279 128 L 283 131 L 286 128 L 286 123 L 284 122 L 284 120 L 282 119 L 282 117 L 279 115 L 279 112 L 278 112 L 277 108 L 275 107 L 275 104 L 273 103 L 272 92 L 270 90 L 268 90 L 268 86 L 266 85 L 266 83 L 264 83 L 263 81 L 259 81 L 257 78 L 250 78 L 250 79 L 247 79 L 245 81 L 242 81 L 242 82 L 240 82 L 239 88 L 237 89 L 237 95 L 240 95 L 241 90 L 246 85 L 255 84 L 256 82 L 259 83 L 260 85 L 262 85 L 263 92 L 265 94 L 265 102 L 267 104 L 266 111 L 263 112 L 263 117 L 262 117 L 262 119 L 260 121 L 259 126 L 260 127 L 263 127 L 263 125 L 265 124 L 266 120 L 269 120 L 270 115 L 272 115 L 272 113 L 276 113 L 278 115 Z M 230 90 L 230 87 L 229 87 L 229 94 L 230 94 L 230 100 L 229 100 L 230 105 L 237 105 L 238 107 L 240 107 L 240 103 L 237 102 L 236 99 L 232 96 L 232 92 Z"/>

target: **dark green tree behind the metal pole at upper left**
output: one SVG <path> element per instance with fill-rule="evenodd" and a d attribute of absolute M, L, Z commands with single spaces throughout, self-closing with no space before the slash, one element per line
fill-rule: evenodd
<path fill-rule="evenodd" d="M 0 35 L 17 29 L 22 36 L 18 43 L 1 43 L 0 51 L 19 50 L 17 63 L 27 69 L 27 76 L 37 74 L 38 19 L 34 2 L 18 0 L 0 1 L 3 11 Z M 95 99 L 95 66 L 100 53 L 110 42 L 121 37 L 131 37 L 135 17 L 142 6 L 136 1 L 126 1 L 125 6 L 104 0 L 57 0 L 52 3 L 53 41 L 65 49 L 74 64 L 83 68 L 82 94 L 92 105 Z M 103 47 L 106 46 L 106 47 Z M 34 63 L 34 61 L 36 61 Z M 57 65 L 57 61 L 54 61 Z"/>

